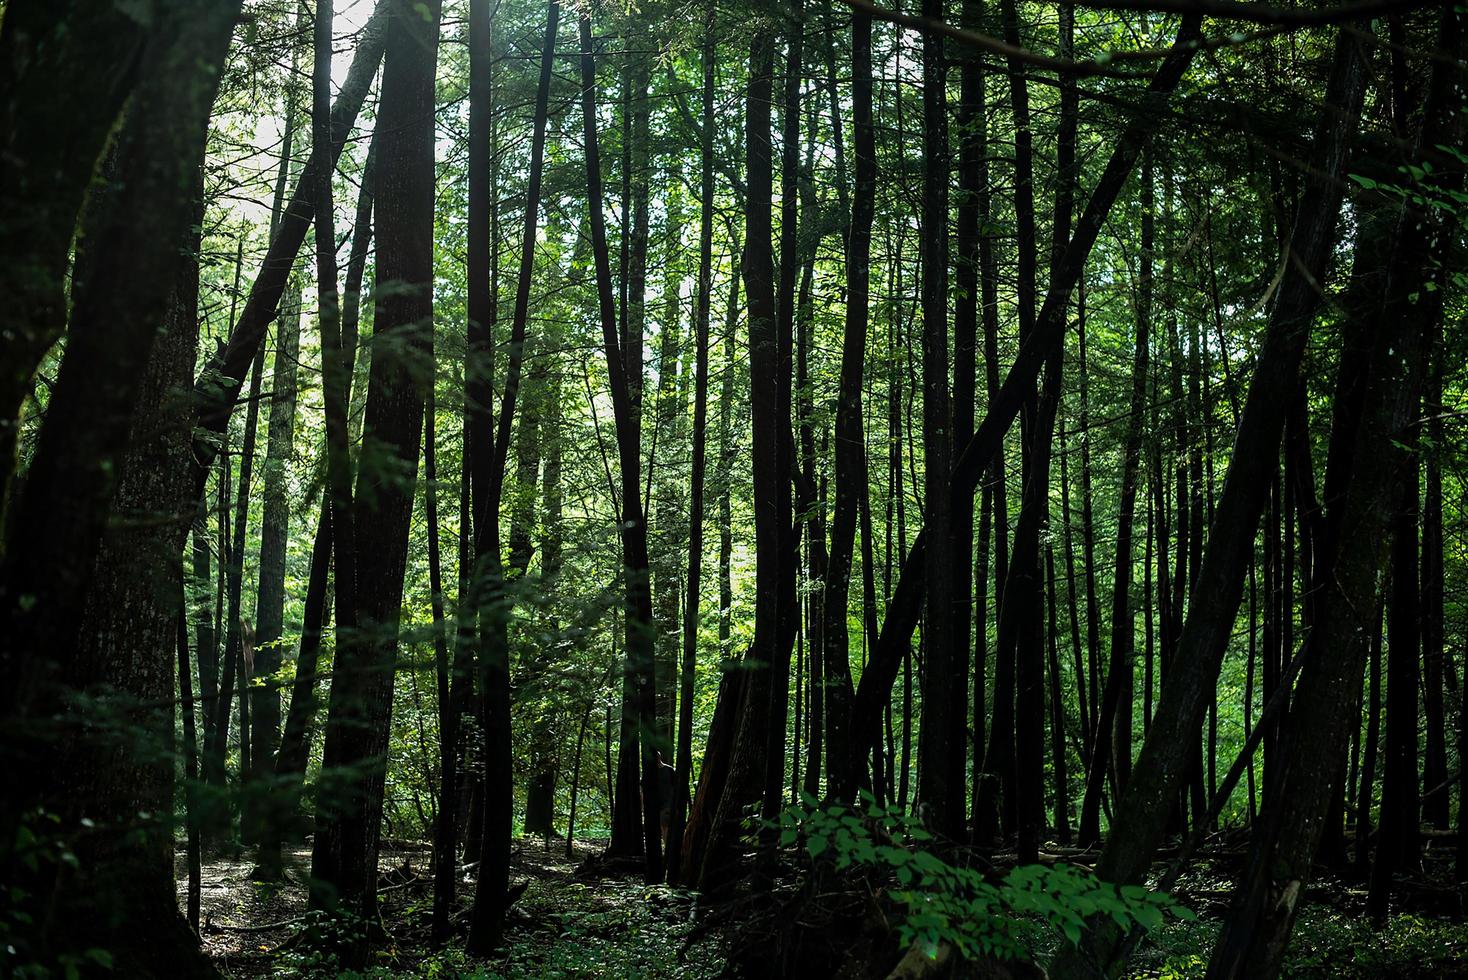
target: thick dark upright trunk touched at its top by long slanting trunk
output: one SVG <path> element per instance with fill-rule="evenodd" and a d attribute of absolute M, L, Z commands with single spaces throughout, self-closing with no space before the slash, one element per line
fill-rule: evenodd
<path fill-rule="evenodd" d="M 326 772 L 352 772 L 319 801 L 311 854 L 311 904 L 376 921 L 377 849 L 396 670 L 398 622 L 408 555 L 408 524 L 423 436 L 423 367 L 433 329 L 433 78 L 439 4 L 395 3 L 385 56 L 377 125 L 380 185 L 373 358 L 367 381 L 363 456 L 351 508 L 355 632 L 339 629 L 327 710 Z M 336 120 L 332 120 L 333 136 Z M 283 226 L 282 226 L 283 227 Z M 285 232 L 282 230 L 282 236 Z M 319 242 L 320 245 L 320 242 Z M 338 408 L 339 411 L 339 408 Z M 345 549 L 339 549 L 339 553 Z M 338 612 L 338 622 L 344 618 Z M 367 935 L 344 943 L 360 968 Z"/>

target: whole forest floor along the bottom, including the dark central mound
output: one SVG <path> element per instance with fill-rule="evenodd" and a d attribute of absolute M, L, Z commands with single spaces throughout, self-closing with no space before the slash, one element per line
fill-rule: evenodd
<path fill-rule="evenodd" d="M 401 842 L 385 845 L 379 895 L 388 935 L 374 943 L 374 965 L 366 976 L 856 979 L 884 976 L 900 952 L 888 929 L 881 930 L 885 936 L 873 933 L 871 910 L 881 902 L 865 886 L 812 893 L 796 876 L 784 880 L 787 876 L 781 874 L 774 888 L 760 895 L 699 905 L 691 892 L 647 886 L 634 869 L 602 863 L 597 855 L 603 846 L 602 841 L 577 841 L 573 855 L 567 857 L 564 841 L 552 841 L 549 848 L 540 839 L 518 841 L 511 879 L 526 888 L 509 911 L 506 946 L 490 961 L 474 961 L 462 952 L 462 942 L 435 948 L 429 940 L 433 891 L 429 848 Z M 1235 848 L 1218 846 L 1189 870 L 1174 893 L 1198 913 L 1198 918 L 1169 920 L 1151 933 L 1133 955 L 1127 977 L 1202 977 L 1218 923 L 1229 908 L 1239 854 Z M 286 882 L 276 886 L 252 880 L 254 863 L 248 852 L 206 858 L 200 933 L 206 951 L 226 977 L 361 976 L 341 974 L 329 958 L 297 940 L 308 921 L 310 858 L 307 846 L 289 849 Z M 1403 911 L 1380 932 L 1367 926 L 1364 886 L 1334 877 L 1312 883 L 1311 901 L 1301 913 L 1290 943 L 1286 976 L 1468 980 L 1468 924 L 1464 920 L 1468 896 L 1436 885 L 1433 879 L 1440 877 L 1436 866 L 1445 861 L 1431 846 L 1428 858 L 1422 877 L 1399 883 Z M 181 882 L 179 889 L 182 902 L 186 882 Z M 459 892 L 462 932 L 473 893 L 470 877 L 462 879 Z M 1048 958 L 1050 946 L 1042 942 L 1033 949 L 1038 961 Z M 959 971 L 957 976 L 966 974 Z"/>

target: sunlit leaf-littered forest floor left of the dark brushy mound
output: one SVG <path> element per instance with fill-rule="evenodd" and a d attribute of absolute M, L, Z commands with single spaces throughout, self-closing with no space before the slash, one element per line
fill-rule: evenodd
<path fill-rule="evenodd" d="M 462 942 L 435 949 L 432 851 L 427 845 L 383 845 L 379 901 L 388 936 L 374 943 L 371 977 L 715 977 L 724 968 L 716 936 L 694 932 L 694 896 L 644 885 L 636 874 L 587 858 L 605 841 L 515 844 L 512 885 L 526 889 L 509 910 L 508 943 L 492 961 L 471 961 Z M 207 855 L 201 869 L 200 935 L 204 951 L 230 979 L 336 977 L 321 954 L 295 940 L 308 921 L 311 849 L 285 852 L 285 882 L 252 880 L 248 851 Z M 583 867 L 584 866 L 584 867 Z M 461 877 L 461 932 L 467 929 L 473 879 Z M 179 882 L 179 901 L 186 877 Z M 355 976 L 355 974 L 345 974 Z"/>

